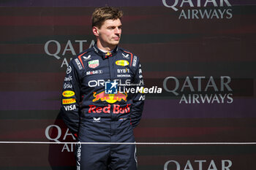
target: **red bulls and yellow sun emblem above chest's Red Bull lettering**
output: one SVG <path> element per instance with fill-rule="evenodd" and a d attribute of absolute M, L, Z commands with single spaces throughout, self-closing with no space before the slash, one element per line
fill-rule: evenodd
<path fill-rule="evenodd" d="M 94 92 L 94 99 L 92 101 L 107 101 L 109 104 L 116 103 L 116 101 L 127 101 L 127 93 L 117 92 L 116 94 L 106 94 L 105 91 L 101 93 Z"/>

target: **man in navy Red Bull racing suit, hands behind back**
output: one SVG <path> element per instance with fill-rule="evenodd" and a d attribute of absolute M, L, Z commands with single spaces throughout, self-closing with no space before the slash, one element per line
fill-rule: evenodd
<path fill-rule="evenodd" d="M 145 96 L 136 87 L 143 86 L 139 58 L 118 47 L 122 15 L 112 7 L 96 9 L 97 42 L 67 68 L 61 116 L 78 142 L 135 142 Z M 137 91 L 127 93 L 128 88 Z M 78 144 L 76 150 L 81 170 L 137 169 L 135 144 Z"/>

